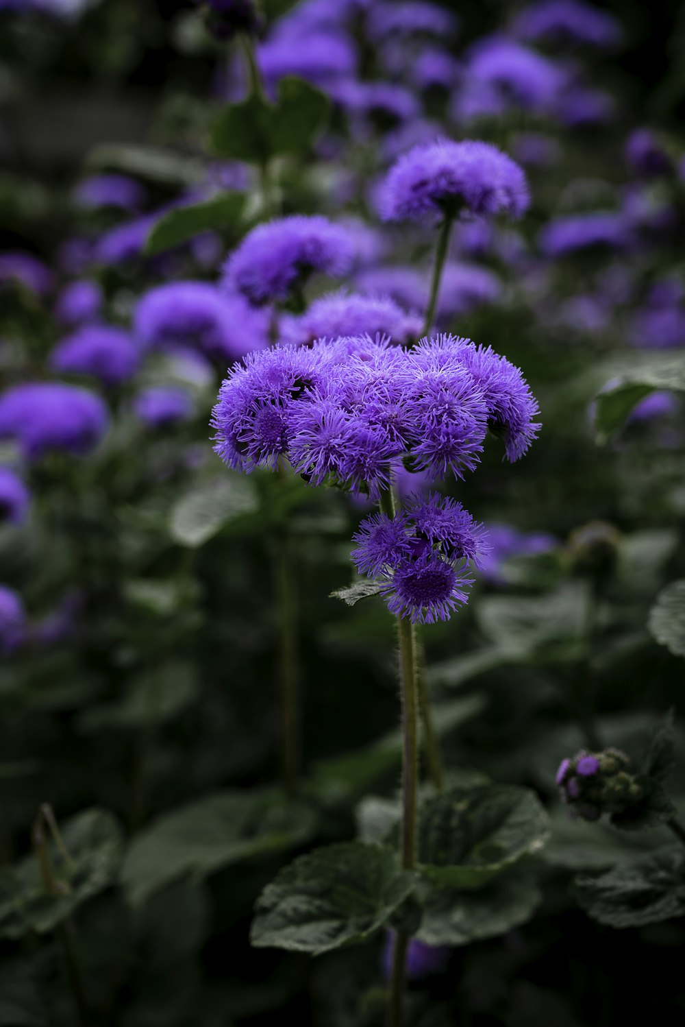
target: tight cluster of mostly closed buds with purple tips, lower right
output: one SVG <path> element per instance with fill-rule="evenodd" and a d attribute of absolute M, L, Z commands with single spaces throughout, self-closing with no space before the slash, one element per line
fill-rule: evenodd
<path fill-rule="evenodd" d="M 576 816 L 598 821 L 602 813 L 622 813 L 644 799 L 644 788 L 628 772 L 630 760 L 618 749 L 590 753 L 581 749 L 562 760 L 557 785 Z"/>

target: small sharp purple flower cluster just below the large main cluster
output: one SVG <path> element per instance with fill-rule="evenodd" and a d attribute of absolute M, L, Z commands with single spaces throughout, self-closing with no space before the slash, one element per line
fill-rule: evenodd
<path fill-rule="evenodd" d="M 413 623 L 448 620 L 467 602 L 469 564 L 487 551 L 482 527 L 460 503 L 436 493 L 410 500 L 393 518 L 372 515 L 352 540 L 357 569 L 378 581 L 392 613 Z"/>

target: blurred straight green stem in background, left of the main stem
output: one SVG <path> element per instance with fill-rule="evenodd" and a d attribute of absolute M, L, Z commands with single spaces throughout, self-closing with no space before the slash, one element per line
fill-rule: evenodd
<path fill-rule="evenodd" d="M 279 477 L 285 484 L 285 467 Z M 292 797 L 300 768 L 299 681 L 297 658 L 297 613 L 292 539 L 286 532 L 276 538 L 274 560 L 278 615 L 278 677 L 281 698 L 281 778 L 285 794 Z"/>

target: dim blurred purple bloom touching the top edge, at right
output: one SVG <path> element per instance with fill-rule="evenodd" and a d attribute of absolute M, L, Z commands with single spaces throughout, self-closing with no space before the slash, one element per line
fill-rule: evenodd
<path fill-rule="evenodd" d="M 521 11 L 514 22 L 521 39 L 555 43 L 586 43 L 612 48 L 622 39 L 622 30 L 612 14 L 581 0 L 540 0 Z"/>

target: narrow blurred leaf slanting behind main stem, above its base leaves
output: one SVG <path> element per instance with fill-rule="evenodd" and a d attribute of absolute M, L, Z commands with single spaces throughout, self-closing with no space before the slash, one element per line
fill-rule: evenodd
<path fill-rule="evenodd" d="M 438 735 L 454 730 L 477 716 L 485 707 L 482 695 L 467 695 L 433 707 L 434 726 Z M 378 738 L 355 753 L 319 760 L 308 782 L 309 790 L 327 801 L 337 801 L 359 795 L 378 777 L 399 766 L 402 759 L 402 734 L 399 730 Z"/>

